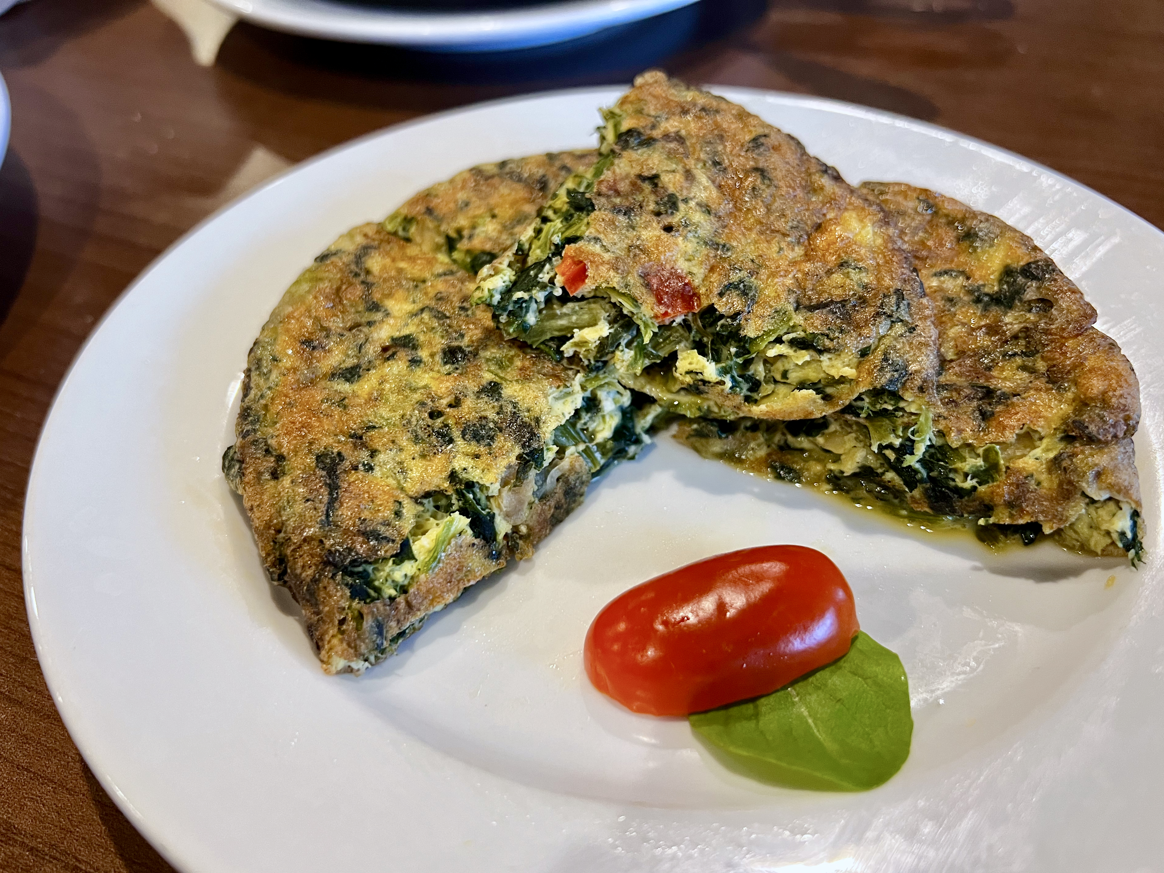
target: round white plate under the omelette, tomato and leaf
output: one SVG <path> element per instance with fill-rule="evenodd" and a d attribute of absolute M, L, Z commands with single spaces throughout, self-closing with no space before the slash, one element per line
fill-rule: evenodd
<path fill-rule="evenodd" d="M 483 161 L 594 142 L 616 90 L 462 109 L 310 161 L 161 257 L 88 341 L 41 435 L 24 584 L 69 731 L 184 871 L 1158 870 L 1164 234 L 957 134 L 828 100 L 722 93 L 852 180 L 906 179 L 1031 233 L 1135 363 L 1149 559 L 994 555 L 704 461 L 667 436 L 538 554 L 361 679 L 324 675 L 219 471 L 247 349 L 348 227 Z M 909 672 L 904 768 L 865 794 L 771 788 L 581 670 L 627 587 L 764 542 L 828 552 Z"/>

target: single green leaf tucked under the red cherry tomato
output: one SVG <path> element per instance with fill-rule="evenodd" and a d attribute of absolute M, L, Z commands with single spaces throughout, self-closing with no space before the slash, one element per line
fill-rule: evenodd
<path fill-rule="evenodd" d="M 864 632 L 844 658 L 779 691 L 688 718 L 731 769 L 833 792 L 885 782 L 909 757 L 914 733 L 901 659 Z"/>

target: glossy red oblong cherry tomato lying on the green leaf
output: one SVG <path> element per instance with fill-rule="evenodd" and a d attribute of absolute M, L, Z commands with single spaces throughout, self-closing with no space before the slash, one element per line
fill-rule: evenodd
<path fill-rule="evenodd" d="M 758 697 L 849 651 L 857 610 L 815 548 L 708 558 L 611 601 L 587 632 L 587 675 L 636 712 L 686 716 Z"/>

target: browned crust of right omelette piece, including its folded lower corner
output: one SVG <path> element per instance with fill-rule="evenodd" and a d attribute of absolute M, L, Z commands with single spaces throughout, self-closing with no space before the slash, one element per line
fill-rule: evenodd
<path fill-rule="evenodd" d="M 1056 439 L 979 497 L 1008 523 L 1062 527 L 1085 496 L 1140 509 L 1131 435 L 1140 383 L 1095 310 L 1025 234 L 952 198 L 865 183 L 894 219 L 934 306 L 942 371 L 934 424 L 953 446 Z"/>

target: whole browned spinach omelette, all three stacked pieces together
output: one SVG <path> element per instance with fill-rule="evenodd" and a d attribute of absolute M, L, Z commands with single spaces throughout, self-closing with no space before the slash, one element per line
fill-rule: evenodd
<path fill-rule="evenodd" d="M 661 410 L 753 473 L 1141 558 L 1135 374 L 1031 240 L 656 72 L 599 133 L 345 234 L 251 348 L 223 469 L 327 672 L 532 554 Z"/>

